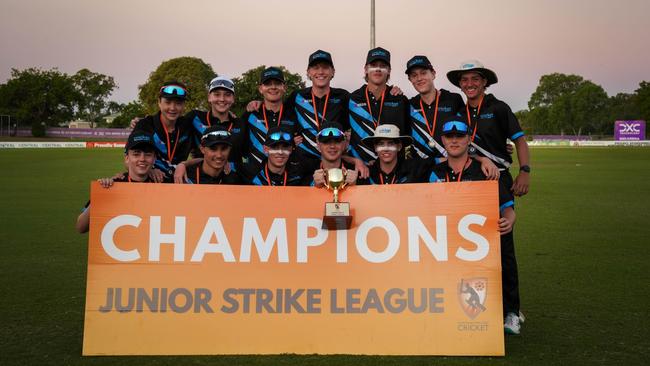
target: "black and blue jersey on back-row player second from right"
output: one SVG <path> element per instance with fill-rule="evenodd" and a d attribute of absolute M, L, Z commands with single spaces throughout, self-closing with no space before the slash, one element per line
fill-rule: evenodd
<path fill-rule="evenodd" d="M 411 98 L 409 104 L 413 149 L 423 159 L 443 157 L 440 151 L 444 151 L 441 137 L 442 125 L 452 118 L 458 118 L 458 113 L 465 112 L 463 98 L 460 94 L 440 89 L 439 95 L 431 104 L 422 101 L 420 95 Z M 430 138 L 438 143 L 437 148 L 429 145 Z"/>

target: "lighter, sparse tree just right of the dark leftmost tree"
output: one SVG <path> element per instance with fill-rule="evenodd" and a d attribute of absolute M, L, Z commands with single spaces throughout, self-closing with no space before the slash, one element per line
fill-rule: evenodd
<path fill-rule="evenodd" d="M 77 88 L 77 118 L 99 122 L 108 106 L 108 97 L 117 87 L 112 76 L 81 69 L 72 75 L 72 82 Z"/>

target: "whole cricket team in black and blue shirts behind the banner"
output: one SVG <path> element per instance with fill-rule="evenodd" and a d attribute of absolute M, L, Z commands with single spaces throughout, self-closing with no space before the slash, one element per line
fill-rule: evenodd
<path fill-rule="evenodd" d="M 350 185 L 498 179 L 504 327 L 519 334 L 523 315 L 512 229 L 514 196 L 528 192 L 529 153 L 511 109 L 486 94 L 497 76 L 478 61 L 448 72 L 465 103 L 460 94 L 435 87 L 436 71 L 426 56 L 406 64 L 418 92 L 410 100 L 388 85 L 390 73 L 390 52 L 372 49 L 366 84 L 348 93 L 330 86 L 332 56 L 318 50 L 308 60 L 311 87 L 284 98 L 282 70 L 266 68 L 258 86 L 263 100 L 250 102 L 242 118 L 230 110 L 235 85 L 228 78 L 210 82 L 207 112 L 184 116 L 186 87 L 165 83 L 159 112 L 137 121 L 126 144 L 128 171 L 100 181 L 105 187 L 113 181 L 323 187 L 331 168 L 341 168 Z M 508 140 L 519 161 L 514 179 Z M 88 229 L 87 208 L 77 223 L 82 232 Z"/>

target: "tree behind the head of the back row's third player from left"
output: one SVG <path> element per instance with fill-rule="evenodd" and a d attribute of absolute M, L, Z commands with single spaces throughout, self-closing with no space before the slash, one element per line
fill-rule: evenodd
<path fill-rule="evenodd" d="M 293 93 L 294 90 L 302 89 L 305 87 L 305 82 L 302 80 L 300 74 L 294 74 L 287 70 L 284 66 L 276 66 L 284 73 L 284 82 L 287 85 L 285 96 Z M 233 106 L 233 112 L 241 116 L 245 112 L 246 104 L 251 100 L 261 100 L 262 97 L 258 92 L 260 83 L 260 76 L 262 71 L 266 68 L 265 65 L 260 65 L 254 69 L 244 72 L 240 77 L 234 78 L 236 101 Z"/>

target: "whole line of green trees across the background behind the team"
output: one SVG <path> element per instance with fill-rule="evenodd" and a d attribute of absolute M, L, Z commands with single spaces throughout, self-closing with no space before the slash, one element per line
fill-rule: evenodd
<path fill-rule="evenodd" d="M 237 98 L 233 111 L 241 115 L 248 101 L 259 99 L 257 85 L 266 65 L 233 78 Z M 280 66 L 285 73 L 287 94 L 304 88 L 300 74 Z M 186 108 L 207 110 L 206 90 L 215 77 L 212 66 L 200 58 L 179 57 L 164 61 L 139 86 L 138 100 L 130 103 L 110 101 L 117 88 L 111 76 L 88 69 L 74 75 L 58 69 L 12 69 L 11 77 L 0 84 L 0 114 L 10 115 L 20 126 L 31 126 L 42 136 L 48 126 L 59 126 L 72 119 L 105 126 L 106 116 L 117 114 L 110 127 L 126 127 L 137 116 L 158 109 L 158 88 L 168 80 L 187 85 L 190 98 Z M 609 97 L 605 90 L 579 75 L 543 75 L 531 95 L 528 109 L 516 112 L 530 135 L 612 135 L 616 120 L 650 120 L 650 82 L 642 81 L 633 94 Z"/>

